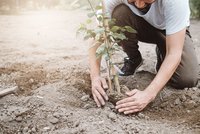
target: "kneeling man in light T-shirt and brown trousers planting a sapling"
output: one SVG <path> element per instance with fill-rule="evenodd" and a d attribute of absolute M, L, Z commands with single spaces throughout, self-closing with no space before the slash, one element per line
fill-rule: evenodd
<path fill-rule="evenodd" d="M 132 75 L 142 64 L 138 41 L 157 45 L 157 75 L 143 91 L 134 89 L 116 103 L 124 114 L 143 110 L 170 81 L 175 88 L 193 87 L 198 81 L 198 61 L 189 33 L 189 0 L 106 0 L 106 11 L 119 26 L 131 26 L 136 34 L 126 33 L 120 42 L 128 55 L 121 75 Z M 100 61 L 93 47 L 89 50 L 92 94 L 100 107 L 108 97 L 107 83 L 100 76 Z"/>

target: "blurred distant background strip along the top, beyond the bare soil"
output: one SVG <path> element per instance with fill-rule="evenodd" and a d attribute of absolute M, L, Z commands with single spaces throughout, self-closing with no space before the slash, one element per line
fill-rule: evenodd
<path fill-rule="evenodd" d="M 101 0 L 91 0 L 96 5 Z M 190 0 L 192 18 L 200 18 L 200 0 Z M 86 8 L 87 0 L 0 0 L 1 13 L 18 13 L 26 10 Z"/>

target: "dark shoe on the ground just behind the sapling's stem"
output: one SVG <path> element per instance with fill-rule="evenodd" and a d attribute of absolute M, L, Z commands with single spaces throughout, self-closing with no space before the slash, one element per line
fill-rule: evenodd
<path fill-rule="evenodd" d="M 120 76 L 129 76 L 134 75 L 135 71 L 142 65 L 143 60 L 140 56 L 138 59 L 129 59 L 128 57 L 124 58 L 124 66 L 121 69 L 122 73 L 119 73 Z"/>

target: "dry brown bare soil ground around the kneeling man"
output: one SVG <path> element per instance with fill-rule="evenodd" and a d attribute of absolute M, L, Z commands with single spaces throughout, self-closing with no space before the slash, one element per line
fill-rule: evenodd
<path fill-rule="evenodd" d="M 200 84 L 166 86 L 148 108 L 129 116 L 109 102 L 96 107 L 88 45 L 75 34 L 85 19 L 83 10 L 0 16 L 0 90 L 20 89 L 0 98 L 0 134 L 199 134 Z M 192 21 L 191 32 L 200 61 L 199 21 Z M 144 89 L 155 76 L 155 45 L 140 43 L 140 49 L 143 66 L 120 78 L 130 89 Z"/>

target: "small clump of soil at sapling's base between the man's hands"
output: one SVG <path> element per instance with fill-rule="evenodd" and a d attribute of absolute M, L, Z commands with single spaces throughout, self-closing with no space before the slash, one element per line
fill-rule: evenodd
<path fill-rule="evenodd" d="M 127 97 L 126 92 L 128 92 L 128 91 L 130 91 L 130 90 L 125 85 L 120 86 L 120 92 L 118 92 L 115 89 L 112 91 L 107 90 L 107 95 L 109 97 L 109 101 L 111 103 L 113 103 L 113 105 L 116 105 L 116 102 Z"/>

